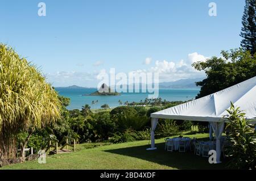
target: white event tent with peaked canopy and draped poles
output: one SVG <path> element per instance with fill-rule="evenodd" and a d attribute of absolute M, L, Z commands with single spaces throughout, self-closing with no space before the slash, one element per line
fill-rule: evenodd
<path fill-rule="evenodd" d="M 151 148 L 155 148 L 155 128 L 158 119 L 175 119 L 190 121 L 207 121 L 216 135 L 217 163 L 220 163 L 220 138 L 224 130 L 225 115 L 230 102 L 246 113 L 246 118 L 256 120 L 256 77 L 238 83 L 227 89 L 218 91 L 203 98 L 192 100 L 179 106 L 151 113 Z"/>

